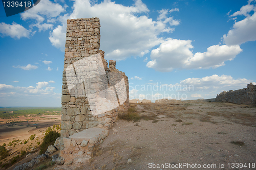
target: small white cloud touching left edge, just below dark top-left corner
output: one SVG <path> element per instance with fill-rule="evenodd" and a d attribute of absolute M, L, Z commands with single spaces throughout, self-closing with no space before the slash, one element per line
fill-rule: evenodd
<path fill-rule="evenodd" d="M 21 37 L 29 38 L 30 31 L 15 22 L 12 22 L 11 25 L 2 22 L 0 23 L 0 33 L 2 33 L 3 37 L 10 36 L 19 39 Z"/>

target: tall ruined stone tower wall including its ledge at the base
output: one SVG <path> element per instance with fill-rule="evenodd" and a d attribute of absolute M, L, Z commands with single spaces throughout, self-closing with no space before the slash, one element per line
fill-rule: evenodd
<path fill-rule="evenodd" d="M 71 164 L 90 159 L 95 144 L 108 136 L 117 111 L 129 108 L 129 83 L 115 61 L 108 67 L 99 50 L 99 18 L 68 19 L 65 46 L 61 157 Z"/>

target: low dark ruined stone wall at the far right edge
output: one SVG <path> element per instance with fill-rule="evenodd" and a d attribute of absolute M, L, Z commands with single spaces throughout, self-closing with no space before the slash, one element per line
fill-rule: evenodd
<path fill-rule="evenodd" d="M 250 83 L 243 89 L 223 91 L 217 94 L 216 102 L 256 105 L 256 85 Z"/>

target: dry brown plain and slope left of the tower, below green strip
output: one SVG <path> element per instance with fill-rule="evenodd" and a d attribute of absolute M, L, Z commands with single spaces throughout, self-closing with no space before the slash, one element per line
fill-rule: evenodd
<path fill-rule="evenodd" d="M 6 149 L 9 150 L 10 156 L 1 160 L 0 169 L 6 169 L 2 167 L 3 164 L 7 163 L 10 159 L 14 156 L 20 155 L 21 151 L 27 151 L 27 153 L 32 153 L 31 156 L 26 157 L 20 162 L 15 163 L 13 166 L 7 169 L 13 169 L 15 166 L 30 161 L 34 157 L 39 154 L 37 149 L 38 144 L 37 142 L 42 142 L 45 134 L 44 132 L 53 125 L 60 124 L 60 115 L 43 115 L 43 116 L 34 116 L 34 117 L 24 117 L 20 116 L 19 118 L 14 119 L 1 119 L 3 122 L 11 122 L 13 121 L 25 121 L 26 119 L 28 122 L 16 123 L 16 124 L 1 124 L 0 125 L 0 145 L 6 143 Z M 11 125 L 11 126 L 10 126 Z M 36 128 L 37 127 L 37 128 Z M 55 128 L 56 130 L 56 128 Z M 35 134 L 35 139 L 29 140 L 30 136 Z M 9 146 L 8 143 L 13 140 L 21 140 L 20 142 L 15 142 L 16 144 Z M 28 142 L 24 144 L 24 141 L 27 140 Z M 35 153 L 34 153 L 35 152 Z"/>

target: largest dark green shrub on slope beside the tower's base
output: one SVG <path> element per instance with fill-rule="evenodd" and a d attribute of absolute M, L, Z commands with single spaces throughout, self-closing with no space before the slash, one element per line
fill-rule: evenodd
<path fill-rule="evenodd" d="M 53 145 L 55 140 L 59 136 L 60 136 L 60 133 L 58 133 L 56 131 L 49 131 L 49 133 L 46 133 L 44 139 L 42 140 L 42 143 L 40 144 L 40 153 L 39 154 L 45 153 L 48 146 L 51 144 Z"/>

